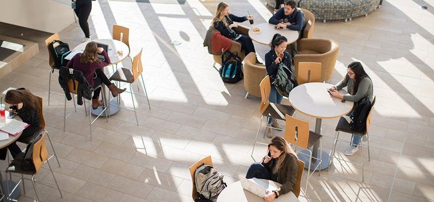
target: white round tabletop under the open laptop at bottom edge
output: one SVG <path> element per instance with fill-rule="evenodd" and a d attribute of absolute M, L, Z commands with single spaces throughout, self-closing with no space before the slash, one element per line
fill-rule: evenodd
<path fill-rule="evenodd" d="M 275 187 L 280 187 L 281 184 L 271 181 L 271 180 L 263 180 L 263 182 L 266 182 L 268 184 L 271 184 Z M 217 198 L 217 202 L 263 202 L 264 199 L 255 195 L 254 193 L 251 193 L 250 191 L 247 191 L 243 189 L 241 186 L 241 181 L 234 182 L 230 184 L 228 187 L 223 189 L 223 191 L 220 193 L 219 197 Z M 282 194 L 279 196 L 279 198 L 276 198 L 276 202 L 279 201 L 286 201 L 286 202 L 298 202 L 297 196 L 291 191 L 286 194 Z"/>

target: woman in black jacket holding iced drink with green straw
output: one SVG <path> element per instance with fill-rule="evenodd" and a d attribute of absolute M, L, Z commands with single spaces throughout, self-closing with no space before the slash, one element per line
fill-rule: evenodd
<path fill-rule="evenodd" d="M 217 6 L 217 11 L 212 19 L 211 26 L 214 26 L 216 30 L 219 30 L 223 36 L 240 42 L 241 49 L 244 50 L 247 56 L 250 52 L 256 53 L 252 39 L 246 35 L 238 33 L 235 30 L 235 28 L 238 27 L 238 24 L 234 24 L 234 22 L 244 22 L 246 20 L 247 16 L 238 17 L 231 14 L 229 11 L 229 5 L 221 2 L 219 6 Z"/>

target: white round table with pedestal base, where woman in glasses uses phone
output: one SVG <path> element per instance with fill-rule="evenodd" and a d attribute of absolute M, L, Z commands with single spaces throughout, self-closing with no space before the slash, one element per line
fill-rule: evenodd
<path fill-rule="evenodd" d="M 348 114 L 353 108 L 353 102 L 342 102 L 342 99 L 336 98 L 329 94 L 327 88 L 333 85 L 329 83 L 305 83 L 291 90 L 289 93 L 289 102 L 292 107 L 300 113 L 316 118 L 315 133 L 320 133 L 322 119 L 332 119 Z M 344 90 L 340 90 L 345 94 Z M 318 154 L 319 141 L 312 146 L 312 156 L 319 159 Z M 318 169 L 323 170 L 329 166 L 329 154 L 321 151 L 322 163 Z M 306 153 L 307 154 L 307 153 Z M 305 155 L 299 155 L 299 159 L 306 163 L 305 168 L 309 166 L 309 159 Z M 318 165 L 318 161 L 312 159 L 310 169 L 313 170 Z"/>

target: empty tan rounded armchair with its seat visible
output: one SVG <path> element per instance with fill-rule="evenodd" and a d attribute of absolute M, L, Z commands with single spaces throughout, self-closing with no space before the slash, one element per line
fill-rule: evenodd
<path fill-rule="evenodd" d="M 321 63 L 321 82 L 332 78 L 338 58 L 339 44 L 327 38 L 303 38 L 298 46 L 298 55 L 294 57 L 295 72 L 299 62 Z"/>

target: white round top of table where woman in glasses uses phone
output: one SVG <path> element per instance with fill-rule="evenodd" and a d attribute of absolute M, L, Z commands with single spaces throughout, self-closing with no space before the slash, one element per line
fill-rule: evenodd
<path fill-rule="evenodd" d="M 310 117 L 331 119 L 348 114 L 353 102 L 336 98 L 329 94 L 329 83 L 305 83 L 291 90 L 289 101 L 294 109 Z M 344 90 L 340 90 L 341 94 Z"/>

